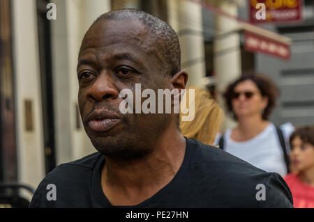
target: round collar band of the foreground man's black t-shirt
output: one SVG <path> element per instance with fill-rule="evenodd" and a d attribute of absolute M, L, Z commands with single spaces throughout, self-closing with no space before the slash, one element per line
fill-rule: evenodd
<path fill-rule="evenodd" d="M 91 191 L 94 195 L 94 198 L 96 199 L 96 202 L 100 207 L 112 207 L 112 208 L 129 208 L 129 207 L 145 207 L 146 205 L 149 205 L 149 203 L 156 203 L 155 200 L 158 200 L 160 196 L 163 196 L 163 193 L 167 191 L 170 187 L 172 187 L 173 184 L 177 180 L 180 180 L 181 177 L 184 177 L 184 169 L 189 165 L 190 157 L 193 156 L 190 152 L 193 150 L 190 149 L 190 139 L 186 138 L 186 151 L 184 153 L 184 160 L 182 161 L 182 164 L 177 171 L 176 175 L 172 178 L 172 180 L 165 185 L 165 187 L 161 188 L 157 193 L 155 193 L 153 196 L 148 198 L 147 200 L 144 200 L 142 203 L 138 205 L 130 205 L 130 206 L 116 206 L 112 205 L 110 201 L 105 196 L 105 193 L 103 193 L 103 189 L 101 187 L 101 169 L 103 168 L 103 164 L 105 164 L 105 157 L 103 154 L 100 154 L 100 157 L 97 159 L 96 164 L 93 169 L 93 173 L 91 175 Z"/>

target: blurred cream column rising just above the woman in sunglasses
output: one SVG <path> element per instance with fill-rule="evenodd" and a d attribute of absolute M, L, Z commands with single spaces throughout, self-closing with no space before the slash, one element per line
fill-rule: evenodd
<path fill-rule="evenodd" d="M 236 3 L 230 3 L 228 0 L 217 1 L 216 7 L 230 15 L 237 16 L 238 6 Z M 234 19 L 223 15 L 215 17 L 214 69 L 218 83 L 218 104 L 227 114 L 223 122 L 223 132 L 236 125 L 226 109 L 222 93 L 232 81 L 241 76 L 240 35 L 234 31 L 238 29 L 238 26 L 238 22 Z"/>

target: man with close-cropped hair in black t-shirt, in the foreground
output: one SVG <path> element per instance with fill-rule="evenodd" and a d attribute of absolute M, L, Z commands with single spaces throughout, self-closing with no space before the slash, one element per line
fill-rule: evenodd
<path fill-rule="evenodd" d="M 136 94 L 136 84 L 156 93 L 186 88 L 179 39 L 157 17 L 98 17 L 84 35 L 77 79 L 84 129 L 98 152 L 57 166 L 30 207 L 292 207 L 280 175 L 182 136 L 178 113 L 121 112 L 121 91 Z"/>

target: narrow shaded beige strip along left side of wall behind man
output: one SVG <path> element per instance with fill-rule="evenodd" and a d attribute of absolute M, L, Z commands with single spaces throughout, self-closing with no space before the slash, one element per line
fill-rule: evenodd
<path fill-rule="evenodd" d="M 52 20 L 52 85 L 57 165 L 73 160 L 68 65 L 68 22 L 66 1 L 54 1 L 57 19 Z M 72 104 L 74 106 L 74 104 Z"/>

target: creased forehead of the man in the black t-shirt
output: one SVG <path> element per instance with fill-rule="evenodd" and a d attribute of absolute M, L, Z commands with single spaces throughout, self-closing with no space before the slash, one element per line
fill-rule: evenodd
<path fill-rule="evenodd" d="M 137 58 L 137 61 L 149 63 L 149 58 L 152 58 L 156 65 L 163 64 L 163 56 L 158 50 L 155 38 L 152 38 L 144 24 L 137 20 L 96 22 L 84 36 L 79 61 L 87 54 L 95 54 L 101 59 L 103 56 L 112 58 L 114 54 L 124 52 Z"/>

